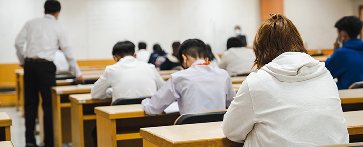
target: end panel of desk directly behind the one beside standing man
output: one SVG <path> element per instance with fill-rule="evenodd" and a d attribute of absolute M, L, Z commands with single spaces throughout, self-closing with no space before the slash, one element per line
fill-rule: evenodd
<path fill-rule="evenodd" d="M 71 102 L 72 146 L 84 147 L 83 107 Z"/>

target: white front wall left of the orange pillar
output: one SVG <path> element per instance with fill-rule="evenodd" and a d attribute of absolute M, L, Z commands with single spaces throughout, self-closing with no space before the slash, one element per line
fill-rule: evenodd
<path fill-rule="evenodd" d="M 260 25 L 259 0 L 59 0 L 78 60 L 111 59 L 117 41 L 145 41 L 171 52 L 173 41 L 199 38 L 221 53 L 235 25 L 249 45 Z M 14 40 L 24 23 L 43 16 L 45 0 L 0 0 L 0 63 L 16 63 Z"/>

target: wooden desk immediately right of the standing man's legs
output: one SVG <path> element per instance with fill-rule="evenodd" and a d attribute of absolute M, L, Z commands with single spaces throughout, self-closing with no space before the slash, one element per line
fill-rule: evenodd
<path fill-rule="evenodd" d="M 53 109 L 54 147 L 71 142 L 71 103 L 68 95 L 90 93 L 91 88 L 80 88 L 77 85 L 55 86 L 51 88 Z"/>

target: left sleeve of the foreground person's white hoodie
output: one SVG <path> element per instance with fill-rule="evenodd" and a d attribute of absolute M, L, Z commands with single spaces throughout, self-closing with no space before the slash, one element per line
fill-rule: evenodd
<path fill-rule="evenodd" d="M 253 129 L 254 115 L 251 95 L 247 82 L 244 81 L 223 117 L 224 135 L 229 140 L 243 143 Z"/>

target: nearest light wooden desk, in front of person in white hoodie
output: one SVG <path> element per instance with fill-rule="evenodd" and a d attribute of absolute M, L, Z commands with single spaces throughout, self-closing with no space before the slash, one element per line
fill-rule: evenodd
<path fill-rule="evenodd" d="M 343 112 L 349 135 L 363 134 L 363 111 Z M 141 128 L 144 147 L 233 147 L 242 146 L 227 139 L 222 122 Z"/>

